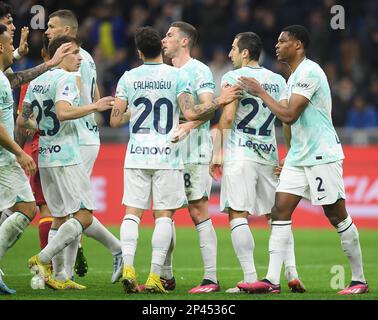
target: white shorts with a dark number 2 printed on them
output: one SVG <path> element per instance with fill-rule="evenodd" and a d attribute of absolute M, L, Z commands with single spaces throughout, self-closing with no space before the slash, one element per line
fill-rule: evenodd
<path fill-rule="evenodd" d="M 295 194 L 311 200 L 313 205 L 333 204 L 345 199 L 343 162 L 308 167 L 284 165 L 277 192 Z"/>

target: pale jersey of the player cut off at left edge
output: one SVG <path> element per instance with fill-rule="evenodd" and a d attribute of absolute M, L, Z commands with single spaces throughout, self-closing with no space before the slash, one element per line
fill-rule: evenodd
<path fill-rule="evenodd" d="M 13 94 L 8 78 L 0 71 L 0 110 L 1 124 L 8 135 L 14 139 L 14 118 L 13 118 Z M 0 166 L 15 162 L 15 155 L 0 145 Z"/>

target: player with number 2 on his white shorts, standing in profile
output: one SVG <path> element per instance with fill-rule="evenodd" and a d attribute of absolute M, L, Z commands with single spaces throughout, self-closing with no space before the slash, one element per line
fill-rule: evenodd
<path fill-rule="evenodd" d="M 332 99 L 327 77 L 320 66 L 306 58 L 309 35 L 305 27 L 294 25 L 282 30 L 276 53 L 289 65 L 288 106 L 275 101 L 256 79 L 241 77 L 243 88 L 258 96 L 284 123 L 291 125 L 287 154 L 275 204 L 269 240 L 269 269 L 265 279 L 239 287 L 252 293 L 279 292 L 283 253 L 291 237 L 291 215 L 302 198 L 323 206 L 352 269 L 352 282 L 339 294 L 368 292 L 362 267 L 359 236 L 345 208 L 342 178 L 344 154 L 332 124 Z"/>

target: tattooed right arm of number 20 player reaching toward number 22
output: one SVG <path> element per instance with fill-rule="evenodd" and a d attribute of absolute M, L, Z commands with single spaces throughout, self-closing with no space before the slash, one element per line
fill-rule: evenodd
<path fill-rule="evenodd" d="M 207 119 L 215 110 L 221 106 L 225 106 L 232 101 L 238 99 L 241 95 L 239 86 L 222 88 L 222 93 L 218 98 L 212 99 L 209 103 L 194 103 L 193 95 L 183 92 L 178 97 L 179 107 L 184 117 L 189 121 Z"/>

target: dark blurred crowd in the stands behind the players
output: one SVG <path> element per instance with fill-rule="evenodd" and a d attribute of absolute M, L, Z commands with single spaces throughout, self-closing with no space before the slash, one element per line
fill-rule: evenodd
<path fill-rule="evenodd" d="M 79 19 L 83 48 L 97 65 L 102 95 L 114 94 L 122 74 L 141 62 L 134 33 L 150 25 L 164 36 L 173 21 L 193 24 L 199 32 L 193 57 L 213 71 L 216 94 L 220 80 L 232 69 L 228 58 L 231 43 L 239 32 L 256 32 L 263 41 L 261 64 L 289 76 L 286 65 L 275 58 L 275 44 L 283 27 L 303 24 L 310 31 L 308 57 L 325 70 L 333 95 L 333 121 L 337 127 L 378 127 L 378 1 L 376 0 L 13 0 L 17 27 L 29 26 L 30 8 L 39 4 L 48 15 L 58 9 L 71 9 Z M 331 7 L 345 9 L 345 29 L 333 30 Z M 47 26 L 46 26 L 47 27 Z M 43 30 L 31 30 L 30 52 L 15 69 L 40 63 Z M 107 126 L 109 113 L 101 119 Z"/>

